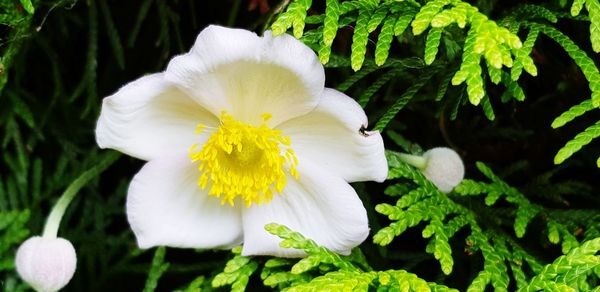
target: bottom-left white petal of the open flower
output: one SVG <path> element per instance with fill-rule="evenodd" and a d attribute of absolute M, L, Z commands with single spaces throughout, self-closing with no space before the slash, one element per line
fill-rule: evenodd
<path fill-rule="evenodd" d="M 140 248 L 215 248 L 241 243 L 238 208 L 221 205 L 198 186 L 197 165 L 185 154 L 154 159 L 133 178 L 127 219 Z"/>

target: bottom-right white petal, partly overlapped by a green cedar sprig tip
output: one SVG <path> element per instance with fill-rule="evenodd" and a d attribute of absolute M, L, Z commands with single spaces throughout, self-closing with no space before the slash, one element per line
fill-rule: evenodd
<path fill-rule="evenodd" d="M 298 167 L 299 180 L 288 177 L 281 194 L 268 204 L 244 208 L 244 255 L 303 256 L 284 249 L 268 233 L 268 223 L 285 225 L 332 251 L 349 254 L 369 234 L 367 212 L 352 187 L 309 162 Z"/>

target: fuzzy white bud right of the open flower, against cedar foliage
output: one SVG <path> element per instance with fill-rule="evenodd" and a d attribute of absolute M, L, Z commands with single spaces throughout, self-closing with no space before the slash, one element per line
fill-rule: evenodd
<path fill-rule="evenodd" d="M 423 158 L 427 160 L 423 174 L 444 193 L 452 191 L 465 176 L 462 159 L 450 148 L 429 149 L 423 154 Z"/>

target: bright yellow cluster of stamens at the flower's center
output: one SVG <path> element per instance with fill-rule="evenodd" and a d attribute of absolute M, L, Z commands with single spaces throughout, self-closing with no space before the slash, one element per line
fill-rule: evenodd
<path fill-rule="evenodd" d="M 198 144 L 190 148 L 190 158 L 199 162 L 198 185 L 209 188 L 209 195 L 221 197 L 221 203 L 234 206 L 240 197 L 246 207 L 252 203 L 268 203 L 273 193 L 283 190 L 286 169 L 296 179 L 298 159 L 291 141 L 281 130 L 271 129 L 266 122 L 270 114 L 263 114 L 260 126 L 236 121 L 226 112 L 221 123 L 201 150 Z M 198 125 L 196 133 L 204 130 Z"/>

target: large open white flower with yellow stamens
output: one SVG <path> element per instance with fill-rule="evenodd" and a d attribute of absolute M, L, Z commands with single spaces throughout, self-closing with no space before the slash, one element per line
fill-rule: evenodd
<path fill-rule="evenodd" d="M 324 83 L 293 37 L 210 26 L 166 71 L 105 98 L 98 145 L 148 161 L 127 195 L 138 245 L 302 256 L 271 222 L 343 254 L 360 244 L 367 215 L 348 182 L 386 178 L 383 142 Z"/>

